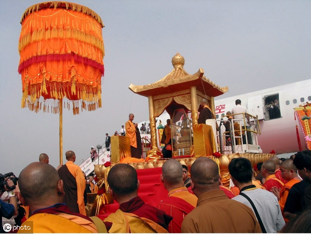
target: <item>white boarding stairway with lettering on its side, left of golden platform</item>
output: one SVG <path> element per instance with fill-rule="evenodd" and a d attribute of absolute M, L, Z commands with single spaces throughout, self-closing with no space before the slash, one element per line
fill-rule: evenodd
<path fill-rule="evenodd" d="M 95 164 L 104 164 L 107 161 L 110 161 L 110 150 L 111 150 L 111 145 L 109 145 L 107 151 L 107 148 L 104 147 L 104 144 L 102 145 L 102 149 L 96 150 L 98 157 L 95 156 L 94 161 L 91 159 L 91 152 L 88 153 L 84 158 L 82 158 L 80 161 L 78 161 L 76 164 L 80 166 L 81 170 L 85 172 L 86 176 L 90 175 L 91 173 L 94 172 L 94 165 Z"/>

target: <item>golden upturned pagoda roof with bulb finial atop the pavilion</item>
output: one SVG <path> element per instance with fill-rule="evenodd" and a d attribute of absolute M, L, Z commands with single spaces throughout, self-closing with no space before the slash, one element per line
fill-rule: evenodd
<path fill-rule="evenodd" d="M 204 70 L 202 68 L 193 75 L 187 73 L 183 68 L 185 59 L 178 52 L 172 58 L 172 64 L 174 69 L 159 81 L 149 85 L 136 86 L 131 84 L 129 89 L 134 93 L 146 97 L 176 93 L 188 89 L 191 86 L 196 86 L 198 92 L 213 97 L 228 91 L 228 87 L 219 87 L 203 76 Z"/>

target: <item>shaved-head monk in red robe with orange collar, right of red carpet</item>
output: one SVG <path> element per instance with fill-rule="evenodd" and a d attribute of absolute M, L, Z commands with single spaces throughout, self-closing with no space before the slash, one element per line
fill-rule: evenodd
<path fill-rule="evenodd" d="M 169 194 L 161 201 L 159 209 L 174 217 L 169 223 L 169 233 L 180 233 L 183 218 L 197 206 L 197 197 L 184 186 L 183 166 L 175 159 L 163 164 L 161 182 Z"/>

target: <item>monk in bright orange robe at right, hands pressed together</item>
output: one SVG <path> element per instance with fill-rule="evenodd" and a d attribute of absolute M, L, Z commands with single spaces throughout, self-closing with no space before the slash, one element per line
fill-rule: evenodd
<path fill-rule="evenodd" d="M 281 190 L 279 190 L 276 187 L 272 188 L 272 193 L 276 195 L 277 199 L 279 200 L 280 208 L 282 215 L 284 217 L 285 222 L 288 222 L 289 220 L 285 218 L 284 216 L 284 206 L 285 202 L 287 199 L 287 196 L 290 192 L 290 188 L 295 185 L 296 183 L 300 182 L 301 179 L 297 175 L 297 168 L 295 164 L 293 163 L 293 160 L 291 159 L 286 159 L 280 164 L 280 170 L 281 170 L 281 175 L 284 180 L 288 180 L 288 182 L 283 185 Z"/>

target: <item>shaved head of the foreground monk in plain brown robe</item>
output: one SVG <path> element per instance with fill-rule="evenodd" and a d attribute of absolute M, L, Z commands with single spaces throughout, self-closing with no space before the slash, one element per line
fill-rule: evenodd
<path fill-rule="evenodd" d="M 195 195 L 219 189 L 218 165 L 209 158 L 199 157 L 191 166 L 191 180 L 195 184 Z"/>

